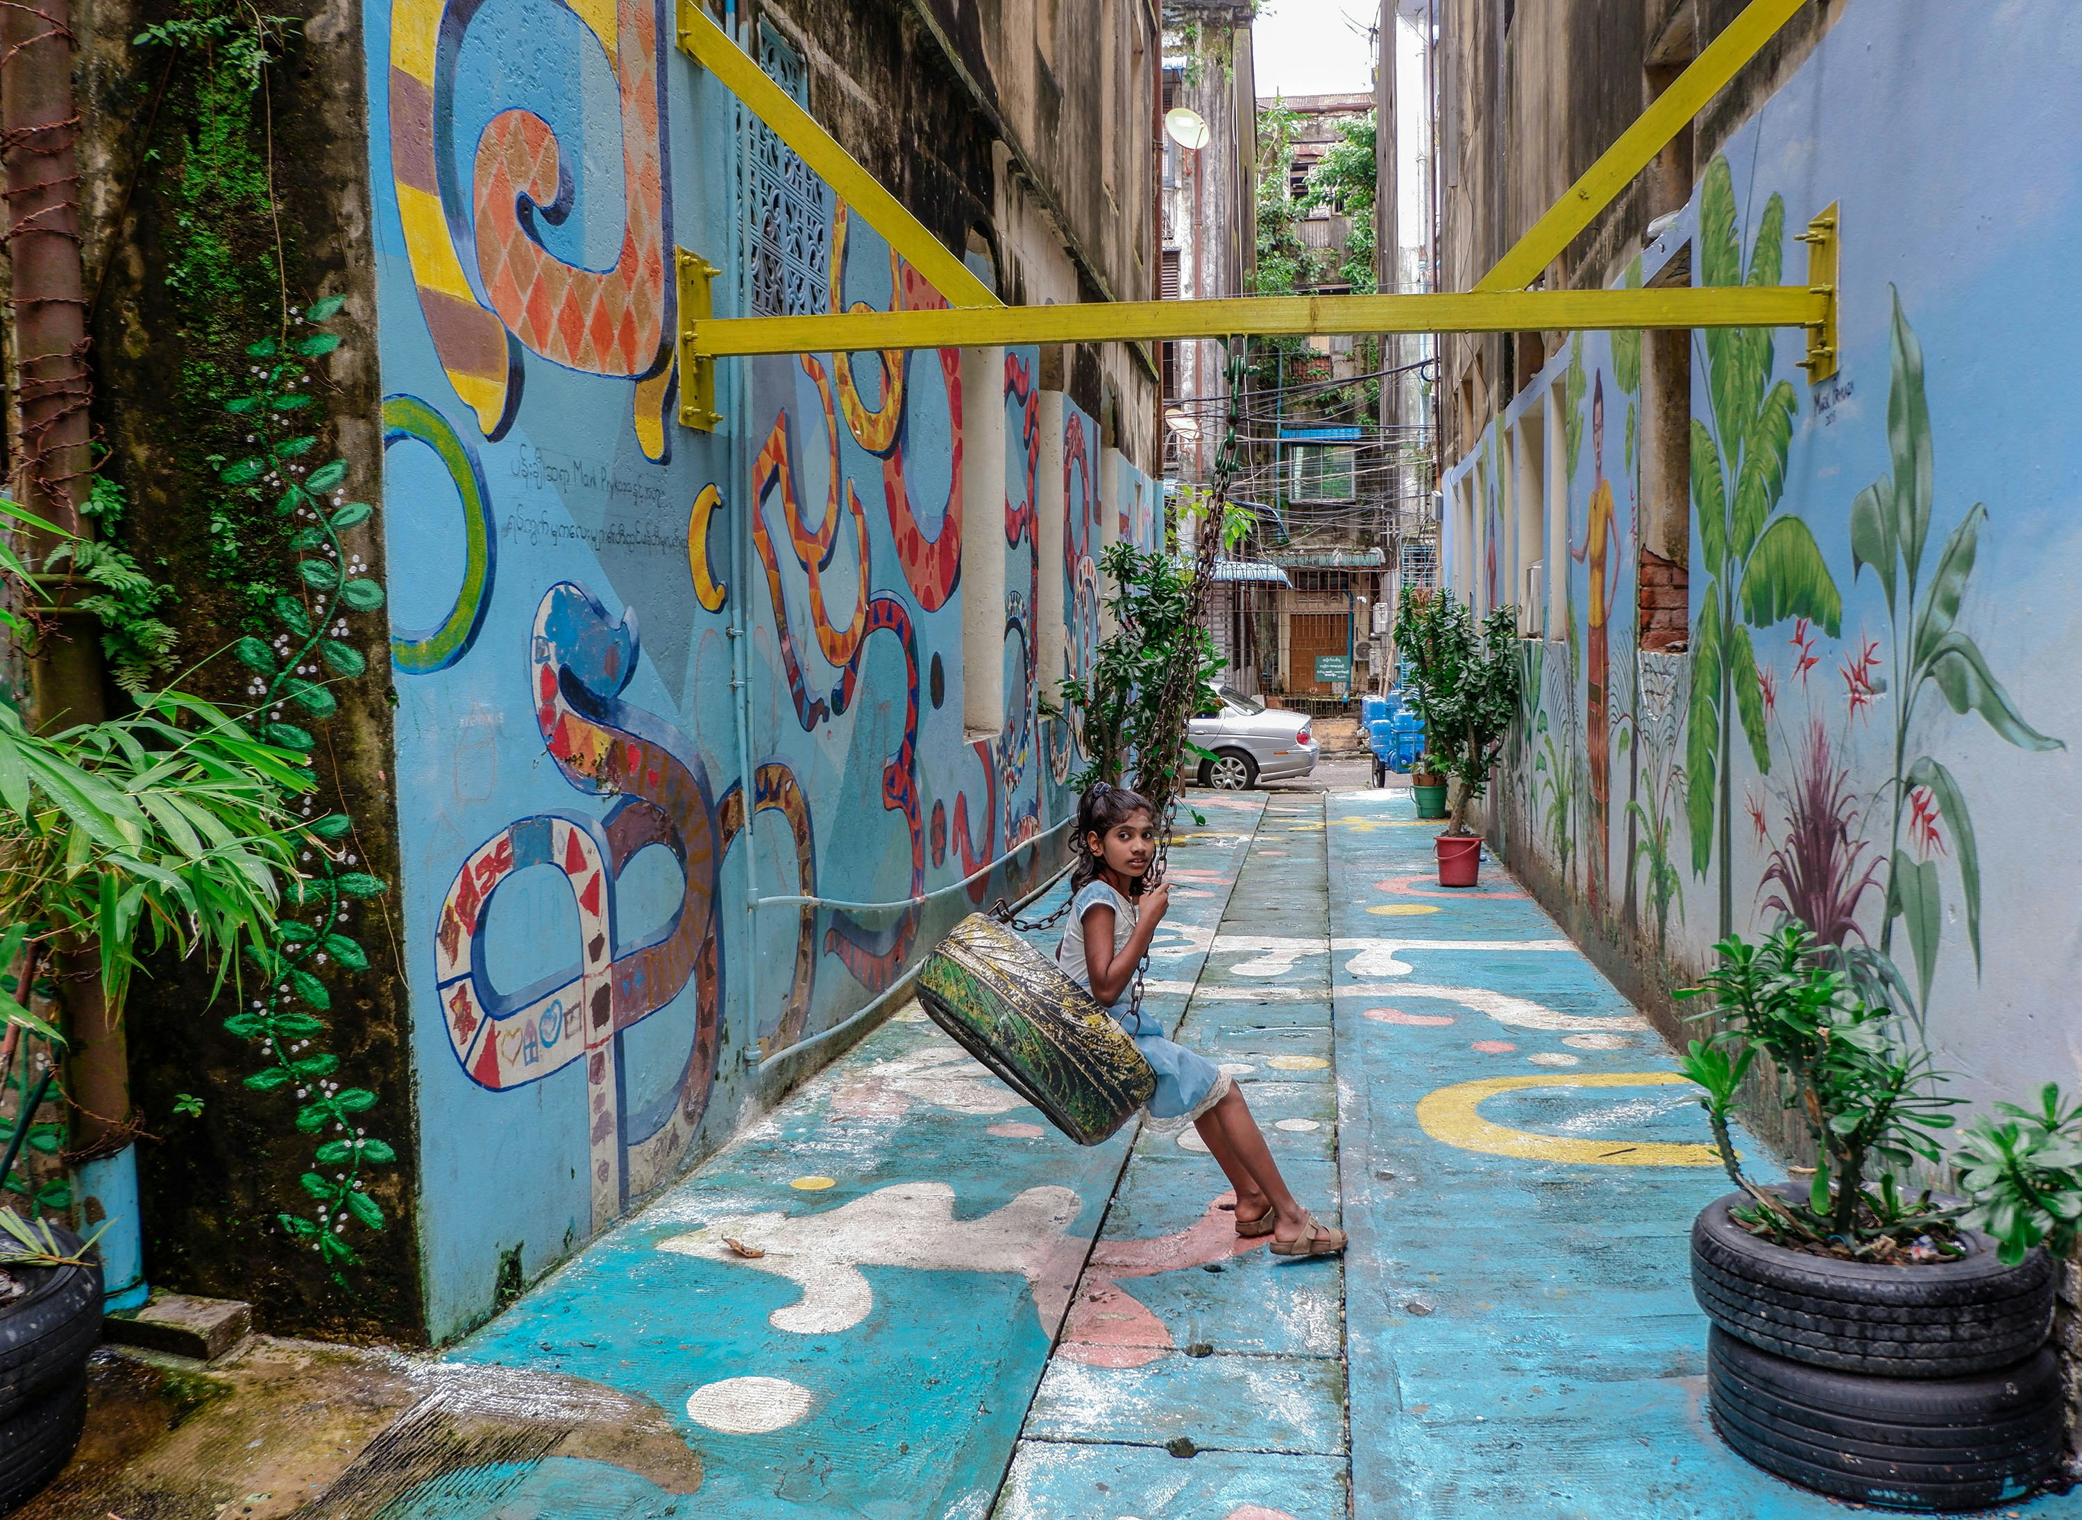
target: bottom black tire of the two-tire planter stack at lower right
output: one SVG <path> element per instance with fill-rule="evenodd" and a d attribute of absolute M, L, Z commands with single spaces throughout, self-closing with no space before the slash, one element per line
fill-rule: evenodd
<path fill-rule="evenodd" d="M 2003 1372 L 1884 1378 L 1832 1372 L 1707 1333 L 1713 1428 L 1807 1489 L 1895 1510 L 2011 1503 L 2059 1464 L 2061 1370 L 2051 1349 Z"/>

